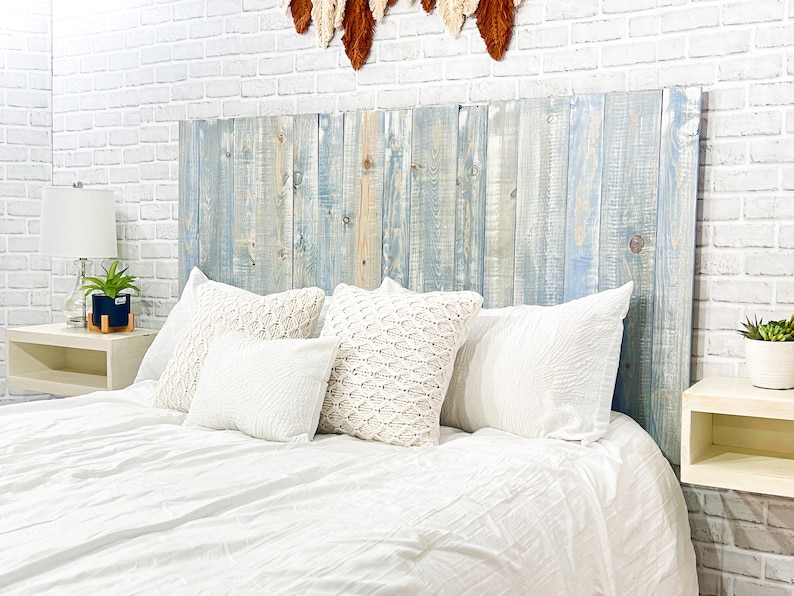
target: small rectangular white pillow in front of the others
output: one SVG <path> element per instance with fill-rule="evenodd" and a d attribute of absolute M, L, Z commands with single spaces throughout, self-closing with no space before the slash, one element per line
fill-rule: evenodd
<path fill-rule="evenodd" d="M 215 338 L 185 424 L 267 441 L 311 441 L 338 346 L 336 337 Z"/>

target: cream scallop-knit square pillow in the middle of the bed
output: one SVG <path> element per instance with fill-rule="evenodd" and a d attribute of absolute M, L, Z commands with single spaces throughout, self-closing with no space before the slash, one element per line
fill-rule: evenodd
<path fill-rule="evenodd" d="M 320 429 L 394 445 L 437 444 L 455 354 L 481 304 L 476 292 L 337 286 L 321 333 L 340 344 Z"/>

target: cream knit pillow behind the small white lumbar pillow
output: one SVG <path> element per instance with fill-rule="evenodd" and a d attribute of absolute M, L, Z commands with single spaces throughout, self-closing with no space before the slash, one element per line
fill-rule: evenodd
<path fill-rule="evenodd" d="M 187 412 L 212 339 L 237 331 L 259 339 L 309 337 L 325 299 L 320 288 L 259 296 L 222 284 L 202 288 L 185 336 L 168 361 L 154 396 L 158 408 Z"/>

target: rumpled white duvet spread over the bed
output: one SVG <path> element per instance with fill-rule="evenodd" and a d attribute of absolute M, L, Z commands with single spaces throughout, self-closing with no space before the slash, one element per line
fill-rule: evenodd
<path fill-rule="evenodd" d="M 591 447 L 278 444 L 153 387 L 0 408 L 0 593 L 697 594 L 681 490 L 623 415 Z"/>

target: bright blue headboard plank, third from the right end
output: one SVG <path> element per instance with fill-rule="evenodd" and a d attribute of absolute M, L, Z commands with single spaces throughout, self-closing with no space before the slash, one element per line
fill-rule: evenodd
<path fill-rule="evenodd" d="M 572 98 L 563 288 L 566 301 L 598 291 L 603 132 L 604 96 Z"/>

